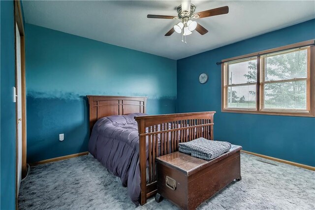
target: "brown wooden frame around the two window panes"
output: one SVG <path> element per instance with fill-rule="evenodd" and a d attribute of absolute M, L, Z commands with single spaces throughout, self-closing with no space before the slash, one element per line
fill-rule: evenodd
<path fill-rule="evenodd" d="M 264 50 L 256 53 L 251 53 L 243 56 L 237 56 L 229 59 L 224 59 L 221 61 L 221 111 L 222 112 L 233 112 L 233 113 L 250 113 L 250 114 L 267 114 L 267 115 L 284 115 L 284 116 L 303 116 L 303 117 L 315 117 L 315 39 L 311 39 L 308 41 L 302 41 L 295 44 L 290 44 L 282 47 L 273 48 L 270 50 Z M 309 99 L 309 107 L 310 111 L 294 111 L 294 110 L 268 110 L 262 109 L 262 96 L 261 96 L 261 88 L 263 87 L 263 82 L 261 82 L 261 67 L 260 67 L 260 56 L 276 53 L 281 51 L 286 51 L 295 48 L 304 48 L 309 47 L 310 49 L 310 69 L 309 69 L 309 88 L 310 88 L 310 99 Z M 227 94 L 225 85 L 226 73 L 225 73 L 225 63 L 236 61 L 236 60 L 246 60 L 256 57 L 257 58 L 257 81 L 256 81 L 256 108 L 233 108 L 226 107 L 227 103 Z"/>

